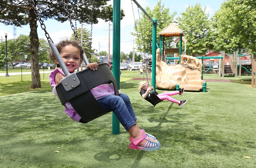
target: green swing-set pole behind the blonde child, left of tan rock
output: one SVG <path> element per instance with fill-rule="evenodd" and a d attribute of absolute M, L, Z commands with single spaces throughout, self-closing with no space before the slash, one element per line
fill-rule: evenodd
<path fill-rule="evenodd" d="M 152 29 L 152 86 L 154 90 L 156 90 L 156 25 L 157 20 L 153 19 L 152 22 L 153 29 Z"/>

